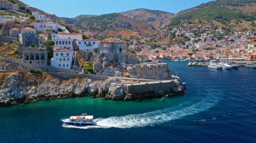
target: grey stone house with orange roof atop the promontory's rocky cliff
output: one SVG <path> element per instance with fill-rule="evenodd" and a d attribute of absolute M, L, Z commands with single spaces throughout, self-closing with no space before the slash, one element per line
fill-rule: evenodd
<path fill-rule="evenodd" d="M 106 39 L 101 41 L 98 53 L 127 53 L 127 47 L 122 42 Z"/>

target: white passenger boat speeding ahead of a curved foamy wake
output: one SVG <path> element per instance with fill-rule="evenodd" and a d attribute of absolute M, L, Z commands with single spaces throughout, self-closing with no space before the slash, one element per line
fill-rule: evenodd
<path fill-rule="evenodd" d="M 92 115 L 87 115 L 82 114 L 79 116 L 70 116 L 70 117 L 65 117 L 60 119 L 63 123 L 65 124 L 70 124 L 70 125 L 96 125 L 96 122 L 93 122 L 93 116 Z"/>

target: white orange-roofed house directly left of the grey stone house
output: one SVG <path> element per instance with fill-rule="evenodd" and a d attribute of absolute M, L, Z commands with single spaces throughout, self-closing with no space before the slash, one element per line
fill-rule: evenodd
<path fill-rule="evenodd" d="M 89 38 L 86 40 L 78 40 L 77 46 L 79 47 L 79 50 L 93 50 L 97 48 L 100 44 L 100 41 L 95 38 Z"/>

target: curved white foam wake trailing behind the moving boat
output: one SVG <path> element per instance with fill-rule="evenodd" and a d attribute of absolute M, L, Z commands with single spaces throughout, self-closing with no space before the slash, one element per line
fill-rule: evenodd
<path fill-rule="evenodd" d="M 133 127 L 145 127 L 152 126 L 156 124 L 161 124 L 164 122 L 169 122 L 171 120 L 180 119 L 184 116 L 193 115 L 198 112 L 209 110 L 211 107 L 217 104 L 219 101 L 216 97 L 207 97 L 200 102 L 193 105 L 189 103 L 184 103 L 183 105 L 171 107 L 164 110 L 157 110 L 152 112 L 146 112 L 143 114 L 133 114 L 126 116 L 113 116 L 105 119 L 96 119 L 97 125 L 87 126 L 87 127 L 76 127 L 73 125 L 63 125 L 63 127 L 68 128 L 133 128 Z"/>

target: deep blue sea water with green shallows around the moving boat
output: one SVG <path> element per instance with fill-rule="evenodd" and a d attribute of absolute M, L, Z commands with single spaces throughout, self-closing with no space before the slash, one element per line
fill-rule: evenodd
<path fill-rule="evenodd" d="M 72 98 L 0 108 L 0 142 L 256 142 L 256 70 L 167 62 L 183 96 L 145 101 Z M 63 125 L 87 111 L 99 126 Z"/>

